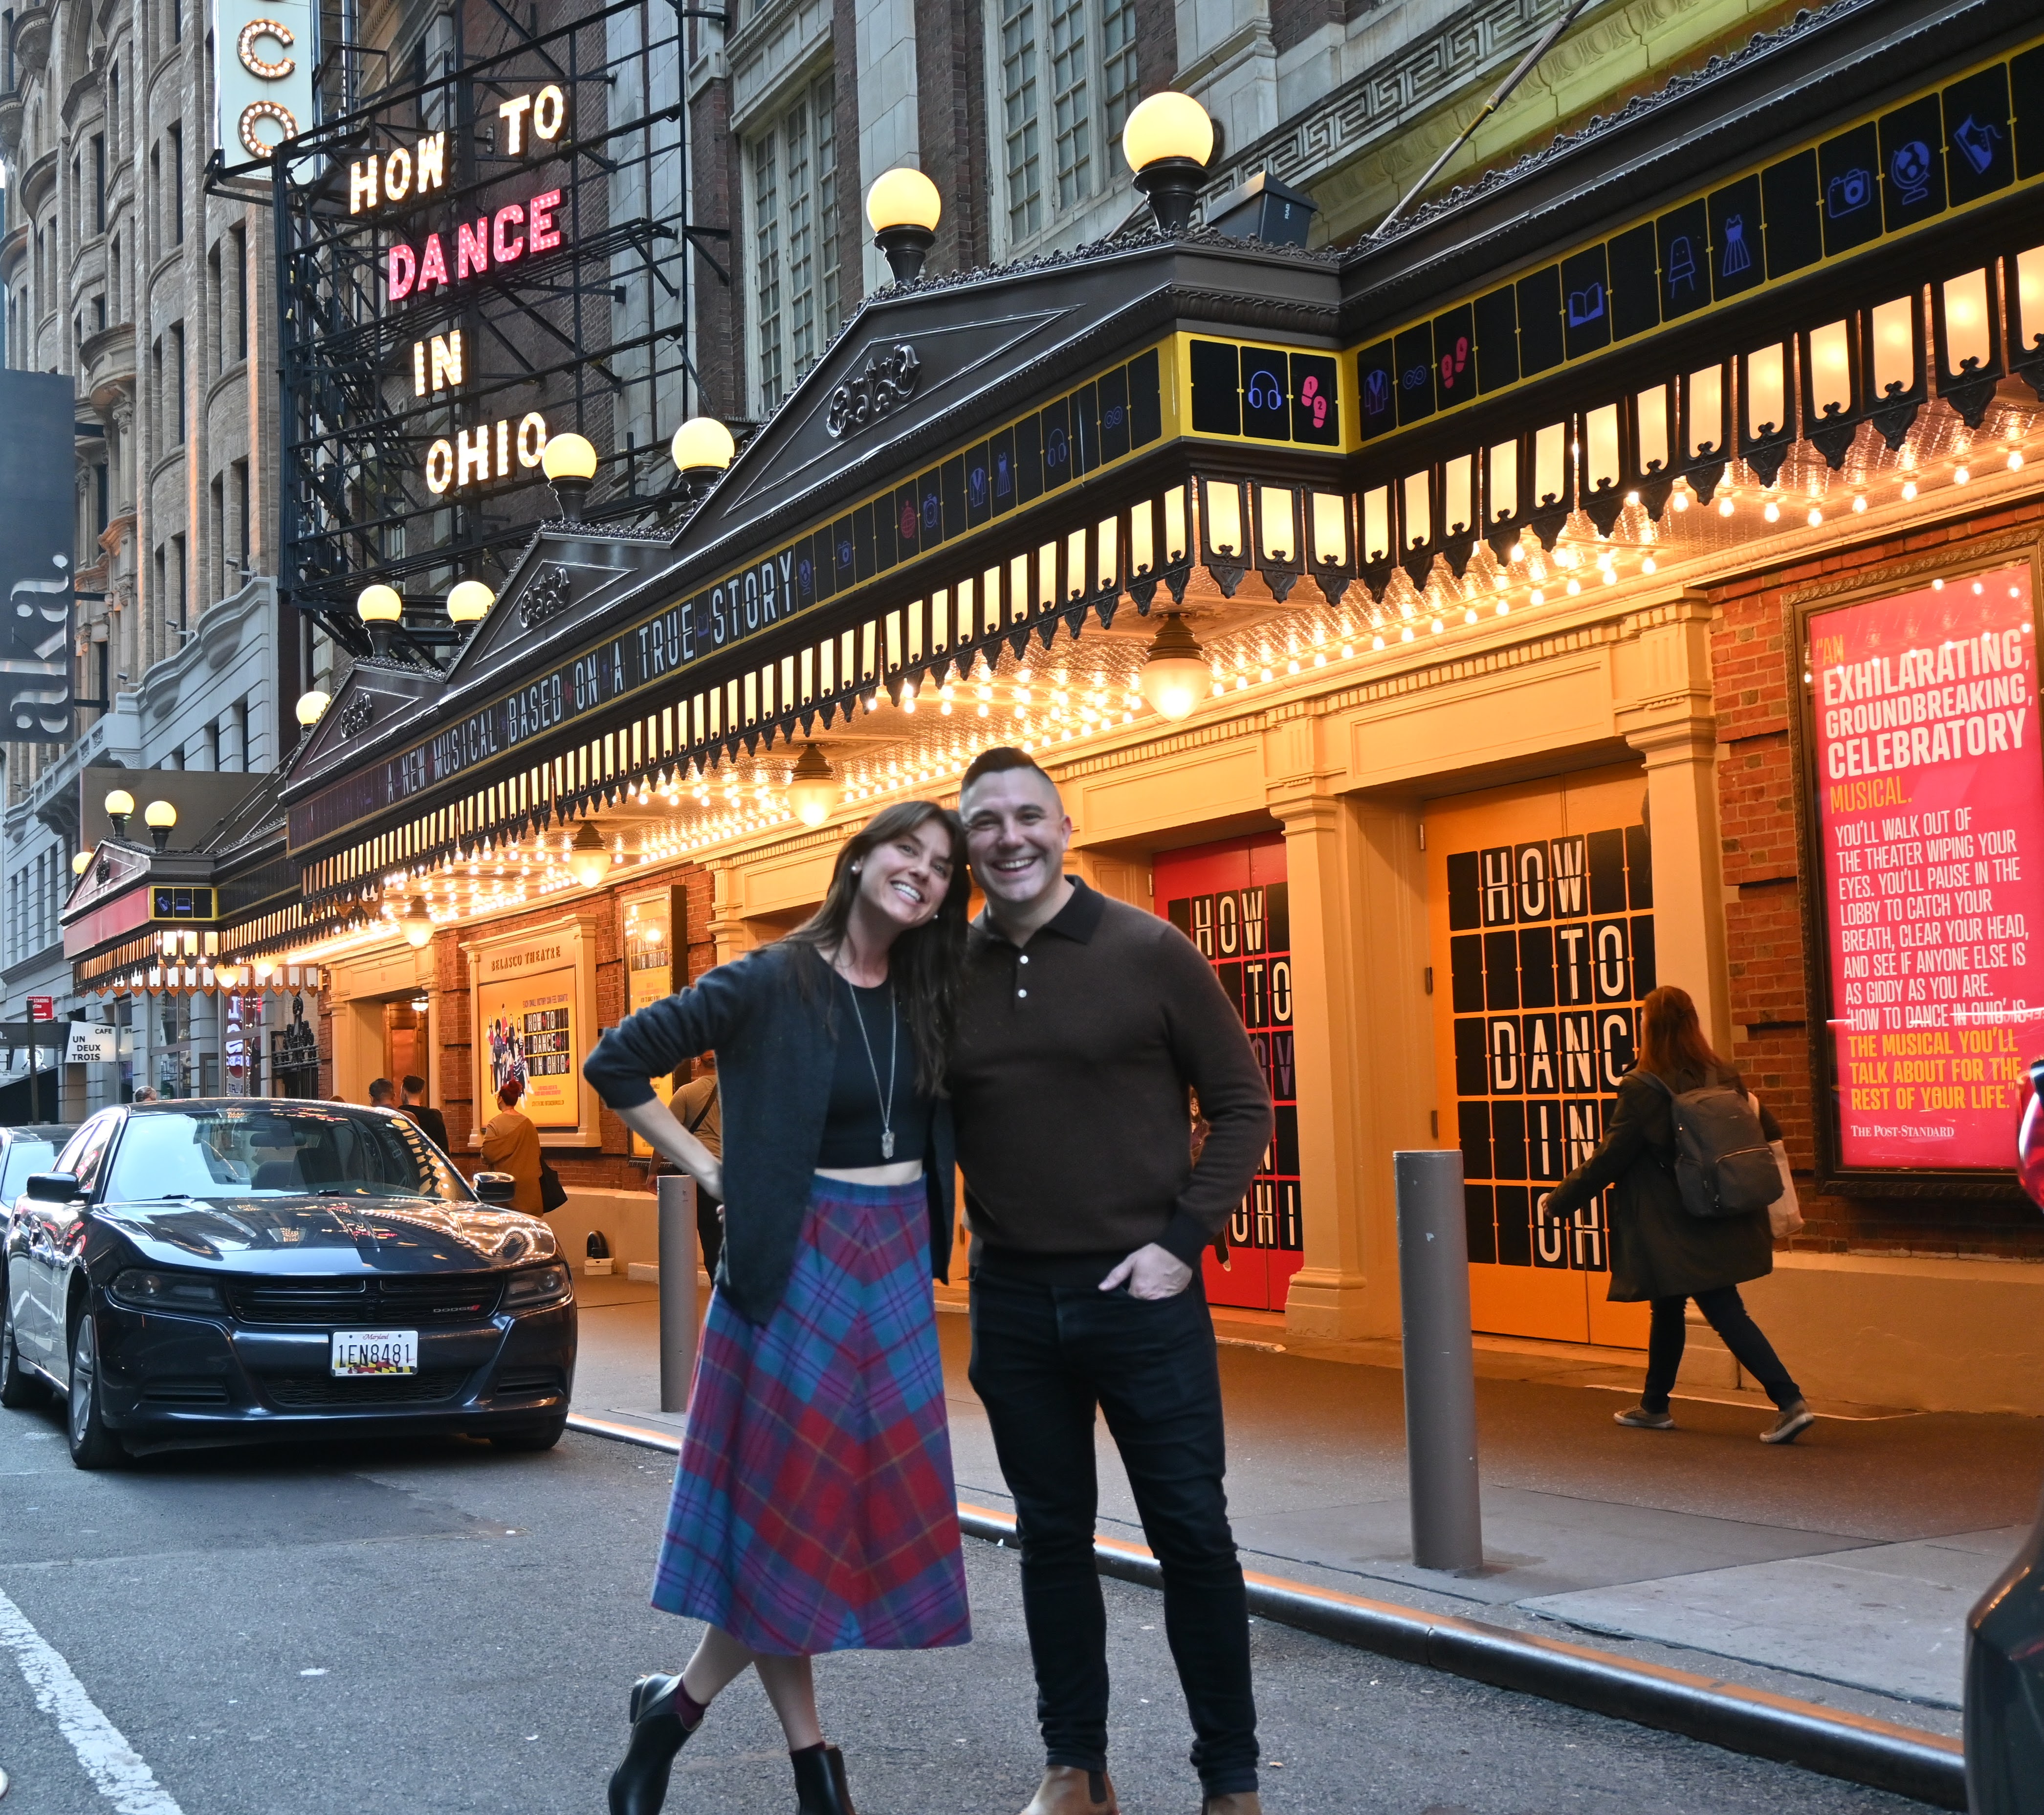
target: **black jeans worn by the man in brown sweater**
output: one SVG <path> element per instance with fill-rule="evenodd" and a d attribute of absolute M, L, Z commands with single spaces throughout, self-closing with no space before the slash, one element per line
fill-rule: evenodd
<path fill-rule="evenodd" d="M 1206 1292 L 973 1279 L 973 1388 L 1016 1498 L 1022 1615 L 1049 1764 L 1106 1770 L 1108 1615 L 1094 1570 L 1094 1406 L 1163 1566 L 1163 1629 L 1206 1795 L 1257 1786 L 1249 1604 L 1222 1490 L 1220 1371 Z"/>

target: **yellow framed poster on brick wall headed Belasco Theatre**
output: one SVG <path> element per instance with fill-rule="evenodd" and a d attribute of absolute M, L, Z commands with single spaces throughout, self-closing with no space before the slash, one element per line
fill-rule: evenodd
<path fill-rule="evenodd" d="M 583 1059 L 595 1044 L 595 936 L 585 916 L 466 944 L 474 983 L 476 1128 L 517 1077 L 519 1110 L 550 1145 L 587 1145 L 597 1132 Z M 480 1138 L 480 1136 L 476 1136 Z"/>

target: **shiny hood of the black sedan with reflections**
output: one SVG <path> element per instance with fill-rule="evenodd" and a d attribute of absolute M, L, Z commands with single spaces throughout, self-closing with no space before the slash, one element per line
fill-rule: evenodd
<path fill-rule="evenodd" d="M 178 1198 L 94 1216 L 157 1265 L 235 1273 L 474 1273 L 556 1253 L 536 1216 L 429 1198 Z"/>

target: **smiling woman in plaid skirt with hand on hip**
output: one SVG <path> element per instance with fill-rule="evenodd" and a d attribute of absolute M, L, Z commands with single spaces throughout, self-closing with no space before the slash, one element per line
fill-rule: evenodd
<path fill-rule="evenodd" d="M 715 1694 L 758 1670 L 801 1815 L 852 1815 L 809 1660 L 971 1637 L 930 1275 L 950 1261 L 946 1065 L 965 946 L 957 816 L 877 813 L 777 944 L 607 1032 L 583 1075 L 726 1202 L 654 1607 L 707 1621 L 632 1688 L 611 1815 L 654 1815 Z M 707 1049 L 724 1159 L 650 1079 Z"/>

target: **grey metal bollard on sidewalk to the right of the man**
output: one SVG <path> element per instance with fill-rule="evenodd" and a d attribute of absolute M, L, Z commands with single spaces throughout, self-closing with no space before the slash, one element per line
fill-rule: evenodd
<path fill-rule="evenodd" d="M 1478 1570 L 1484 1515 L 1476 1496 L 1476 1353 L 1461 1155 L 1453 1149 L 1394 1153 L 1392 1169 L 1412 1562 L 1423 1570 Z"/>

